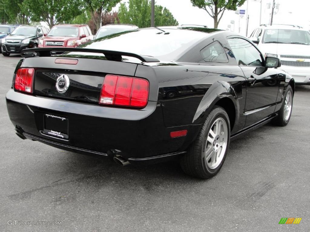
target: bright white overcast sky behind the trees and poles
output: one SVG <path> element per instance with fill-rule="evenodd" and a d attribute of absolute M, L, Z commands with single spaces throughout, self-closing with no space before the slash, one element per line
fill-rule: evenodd
<path fill-rule="evenodd" d="M 157 5 L 162 5 L 170 10 L 175 19 L 181 24 L 198 24 L 206 25 L 208 28 L 213 28 L 213 19 L 205 10 L 194 7 L 190 0 L 155 0 Z M 128 2 L 123 0 L 122 2 Z M 271 9 L 267 9 L 267 3 L 272 0 L 262 0 L 262 16 L 261 23 L 268 24 L 270 21 Z M 309 0 L 276 0 L 276 4 L 280 4 L 279 10 L 275 9 L 276 14 L 273 16 L 273 24 L 293 24 L 305 28 L 310 28 L 310 1 Z M 292 4 L 294 2 L 294 4 Z M 249 27 L 248 35 L 259 26 L 259 11 L 260 0 L 247 0 L 243 6 L 238 9 L 246 10 L 248 4 Z M 118 4 L 119 5 L 119 4 Z M 117 11 L 118 5 L 113 9 Z M 231 21 L 235 24 L 231 24 Z M 225 11 L 223 18 L 219 23 L 219 29 L 226 30 L 228 25 L 231 30 L 246 35 L 246 16 L 240 18 L 235 14 L 235 11 Z"/>

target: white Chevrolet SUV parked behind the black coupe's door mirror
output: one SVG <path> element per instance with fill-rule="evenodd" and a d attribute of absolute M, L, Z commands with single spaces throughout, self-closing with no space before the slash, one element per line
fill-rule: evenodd
<path fill-rule="evenodd" d="M 265 56 L 281 59 L 296 84 L 310 84 L 310 32 L 299 26 L 263 24 L 250 35 Z"/>

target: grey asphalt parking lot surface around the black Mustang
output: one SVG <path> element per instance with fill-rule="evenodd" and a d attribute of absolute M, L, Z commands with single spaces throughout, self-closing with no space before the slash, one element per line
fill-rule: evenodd
<path fill-rule="evenodd" d="M 5 103 L 19 59 L 0 55 L 1 232 L 309 231 L 310 86 L 296 87 L 286 127 L 233 141 L 219 174 L 199 180 L 172 162 L 122 168 L 21 140 Z M 302 220 L 279 225 L 282 217 Z"/>

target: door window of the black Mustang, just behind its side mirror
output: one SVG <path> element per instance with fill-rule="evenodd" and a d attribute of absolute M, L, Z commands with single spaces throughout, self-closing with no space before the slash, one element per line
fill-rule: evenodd
<path fill-rule="evenodd" d="M 248 41 L 241 38 L 228 39 L 238 65 L 240 66 L 263 66 L 260 52 Z"/>

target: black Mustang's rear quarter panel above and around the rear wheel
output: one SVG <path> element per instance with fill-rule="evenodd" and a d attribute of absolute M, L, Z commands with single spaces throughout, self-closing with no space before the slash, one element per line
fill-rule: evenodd
<path fill-rule="evenodd" d="M 159 63 L 152 67 L 153 71 L 149 68 L 138 66 L 136 76 L 155 73 L 158 101 L 162 105 L 166 127 L 202 124 L 212 106 L 222 97 L 232 97 L 238 112 L 236 118 L 241 123 L 237 127 L 242 129 L 244 126 L 242 113 L 246 91 L 240 67 Z"/>

